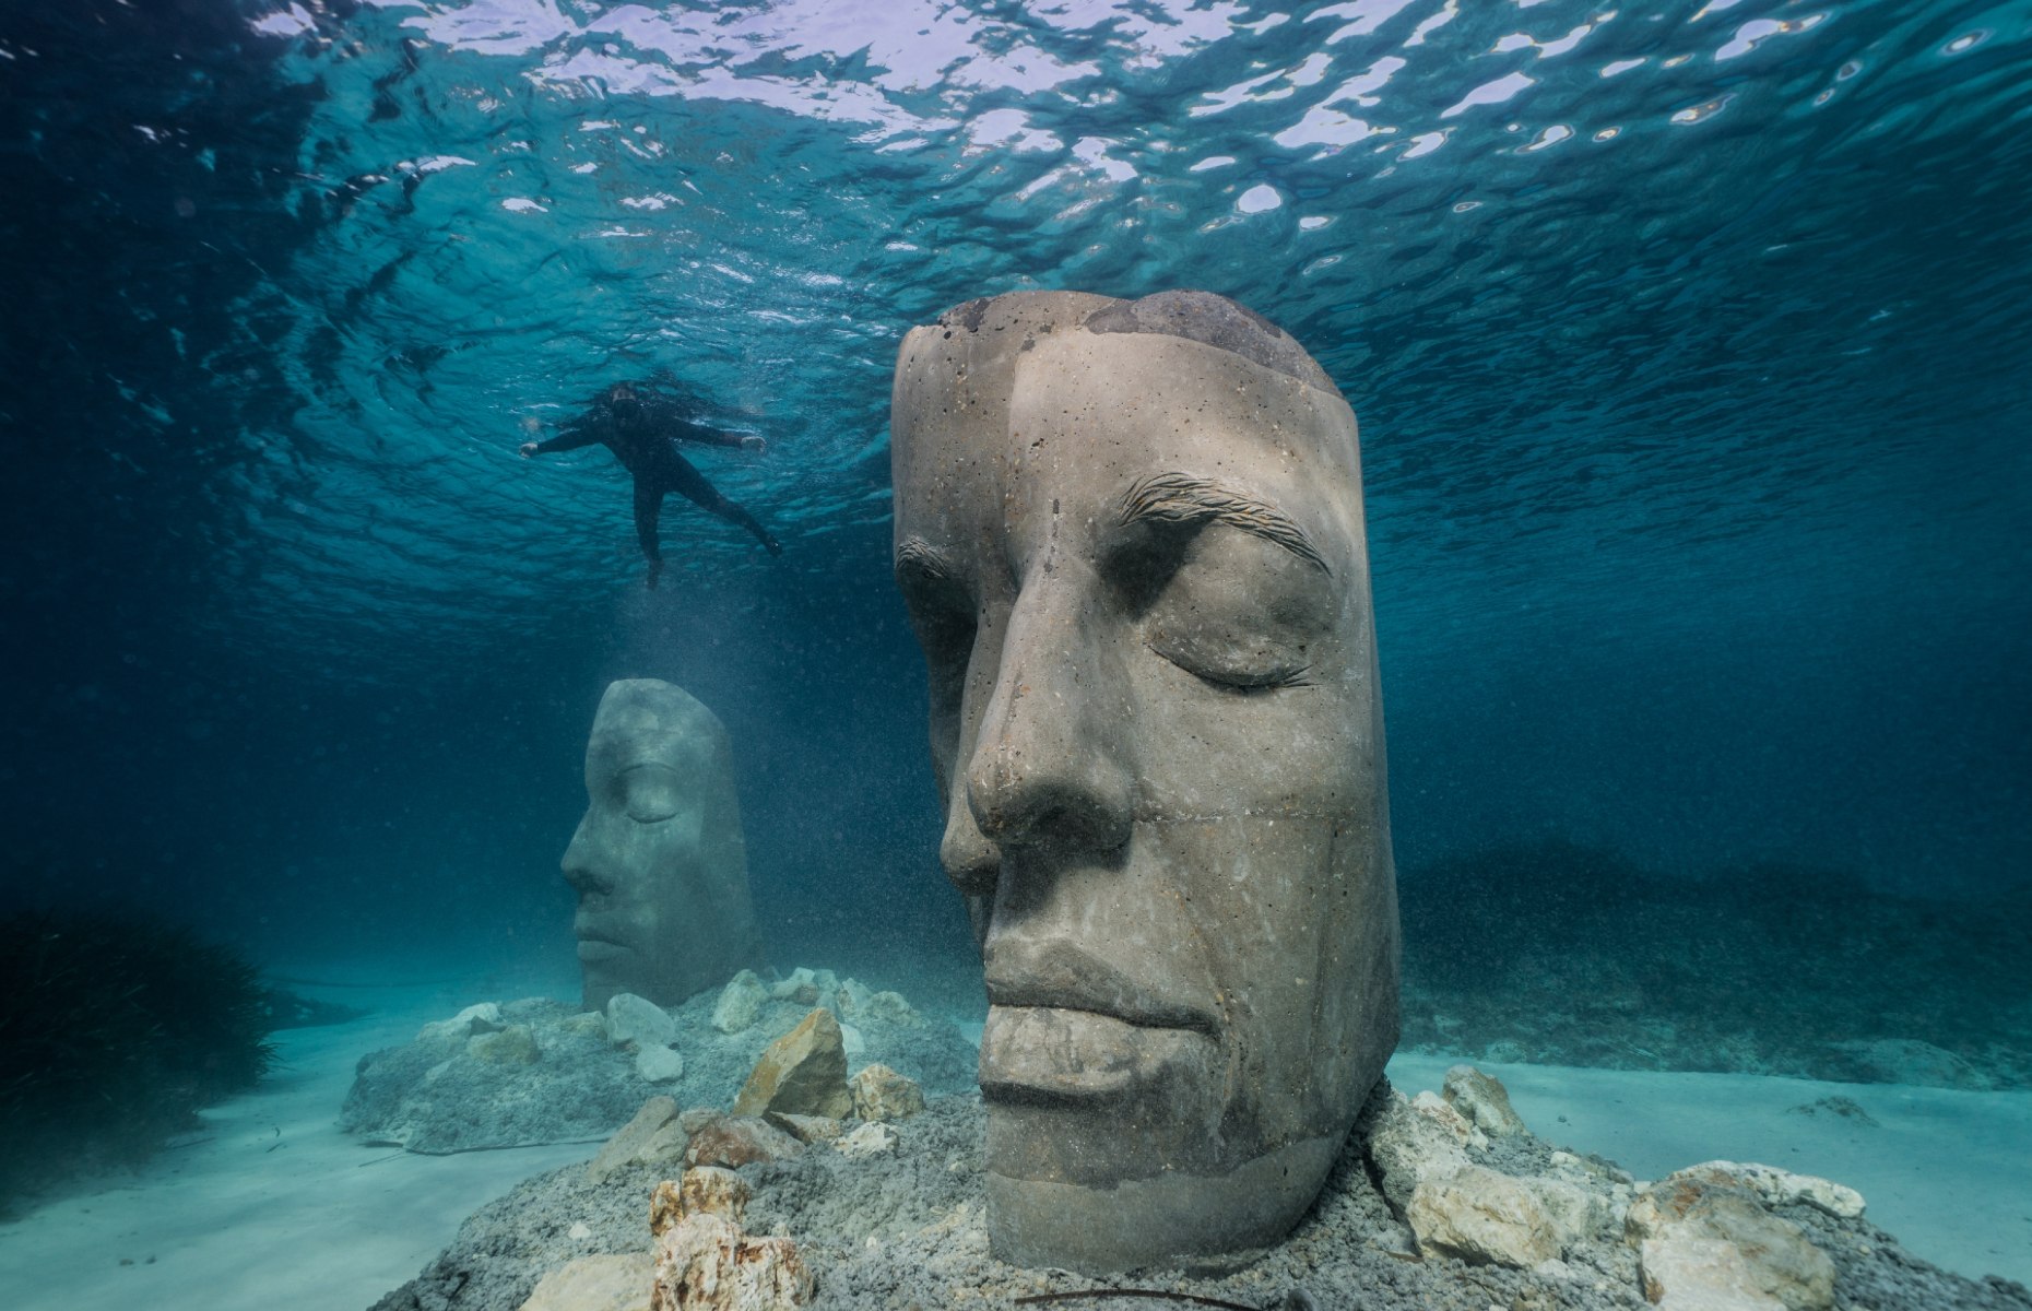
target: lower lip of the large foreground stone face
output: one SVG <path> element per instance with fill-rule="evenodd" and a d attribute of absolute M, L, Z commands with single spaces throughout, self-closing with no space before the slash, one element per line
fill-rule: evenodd
<path fill-rule="evenodd" d="M 1211 1047 L 1211 1035 L 1193 1028 L 1148 1028 L 1093 1010 L 990 1006 L 981 1098 L 1028 1106 L 1126 1100 L 1205 1067 Z"/>

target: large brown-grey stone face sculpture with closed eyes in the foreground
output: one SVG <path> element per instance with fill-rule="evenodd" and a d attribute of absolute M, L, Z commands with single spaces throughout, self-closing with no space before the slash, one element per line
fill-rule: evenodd
<path fill-rule="evenodd" d="M 1207 293 L 969 301 L 892 402 L 994 1250 L 1274 1242 L 1398 1035 L 1355 417 Z"/>

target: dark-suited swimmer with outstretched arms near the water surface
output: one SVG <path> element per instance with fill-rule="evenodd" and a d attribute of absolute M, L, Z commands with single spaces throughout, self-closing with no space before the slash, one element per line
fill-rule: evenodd
<path fill-rule="evenodd" d="M 557 437 L 524 441 L 520 453 L 526 459 L 551 451 L 575 451 L 593 443 L 614 451 L 614 457 L 636 480 L 636 539 L 642 543 L 642 557 L 648 559 L 650 587 L 662 575 L 656 522 L 662 516 L 662 498 L 671 492 L 709 514 L 748 528 L 764 551 L 782 555 L 782 543 L 770 537 L 770 530 L 754 514 L 721 496 L 689 459 L 677 453 L 679 441 L 758 453 L 768 445 L 754 433 L 721 433 L 705 427 L 691 417 L 689 407 L 646 384 L 616 382 L 593 396 L 583 415 L 567 419 Z"/>

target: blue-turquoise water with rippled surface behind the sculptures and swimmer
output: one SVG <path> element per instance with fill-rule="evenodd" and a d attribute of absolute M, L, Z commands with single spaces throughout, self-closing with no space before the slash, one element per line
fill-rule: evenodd
<path fill-rule="evenodd" d="M 1396 850 L 2026 878 L 2032 4 L 18 4 L 8 898 L 569 961 L 601 687 L 727 722 L 784 963 L 965 967 L 900 335 L 1229 295 L 1363 429 Z M 760 457 L 654 594 L 604 451 Z M 2022 902 L 2020 902 L 2022 904 Z M 815 963 L 825 963 L 815 959 Z M 853 959 L 841 967 L 860 967 Z"/>

